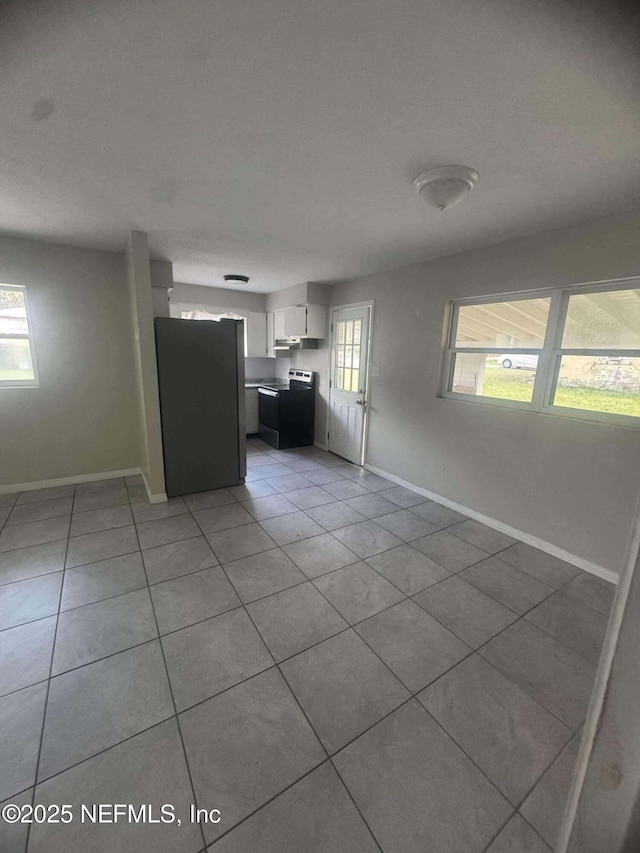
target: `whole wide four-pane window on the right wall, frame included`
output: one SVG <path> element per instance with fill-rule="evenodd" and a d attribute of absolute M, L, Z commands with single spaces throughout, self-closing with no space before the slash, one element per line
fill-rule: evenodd
<path fill-rule="evenodd" d="M 638 285 L 454 303 L 443 395 L 640 425 Z"/>

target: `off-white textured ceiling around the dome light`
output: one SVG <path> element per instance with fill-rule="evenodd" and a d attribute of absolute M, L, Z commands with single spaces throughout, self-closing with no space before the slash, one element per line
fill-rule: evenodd
<path fill-rule="evenodd" d="M 605 11 L 601 11 L 604 9 Z M 624 4 L 82 0 L 0 11 L 0 229 L 176 281 L 336 281 L 640 206 Z M 411 182 L 480 181 L 429 209 Z"/>

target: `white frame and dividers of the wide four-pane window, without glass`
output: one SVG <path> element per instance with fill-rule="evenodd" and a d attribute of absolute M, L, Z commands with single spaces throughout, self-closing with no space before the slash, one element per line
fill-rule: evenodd
<path fill-rule="evenodd" d="M 590 284 L 572 285 L 567 287 L 549 288 L 545 290 L 517 291 L 515 293 L 497 293 L 491 296 L 473 297 L 470 299 L 452 300 L 448 307 L 448 333 L 444 352 L 444 368 L 442 372 L 442 387 L 440 396 L 449 400 L 462 400 L 469 403 L 479 403 L 486 406 L 498 406 L 505 409 L 520 409 L 526 412 L 538 412 L 555 417 L 573 418 L 586 421 L 623 426 L 631 429 L 640 428 L 640 417 L 619 415 L 610 412 L 591 412 L 586 409 L 572 409 L 567 406 L 556 406 L 553 398 L 558 382 L 560 364 L 563 355 L 577 355 L 597 358 L 601 355 L 615 355 L 622 358 L 640 358 L 640 349 L 606 349 L 593 347 L 570 349 L 562 347 L 562 335 L 567 316 L 569 297 L 580 293 L 604 293 L 609 290 L 637 290 L 640 279 L 625 278 L 615 281 L 597 282 Z M 491 305 L 498 302 L 516 302 L 525 299 L 550 299 L 547 329 L 542 347 L 459 347 L 455 345 L 458 316 L 460 307 L 466 305 Z M 501 355 L 509 352 L 538 355 L 533 394 L 530 403 L 521 400 L 502 400 L 497 397 L 482 397 L 477 394 L 464 394 L 452 391 L 453 372 L 456 353 L 495 353 Z"/>

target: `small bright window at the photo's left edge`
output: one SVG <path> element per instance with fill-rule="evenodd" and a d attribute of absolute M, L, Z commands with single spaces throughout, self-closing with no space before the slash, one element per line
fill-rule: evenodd
<path fill-rule="evenodd" d="M 0 284 L 0 388 L 37 384 L 26 290 Z"/>

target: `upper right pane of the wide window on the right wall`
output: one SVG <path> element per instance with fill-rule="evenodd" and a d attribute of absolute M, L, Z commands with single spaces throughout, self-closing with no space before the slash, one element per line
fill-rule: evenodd
<path fill-rule="evenodd" d="M 640 349 L 640 290 L 569 297 L 563 349 Z"/>

